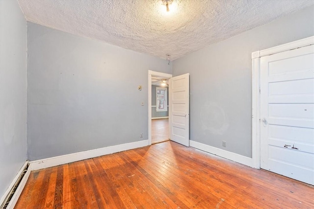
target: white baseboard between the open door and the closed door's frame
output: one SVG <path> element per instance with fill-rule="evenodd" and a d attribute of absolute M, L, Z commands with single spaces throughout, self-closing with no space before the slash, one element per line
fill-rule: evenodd
<path fill-rule="evenodd" d="M 228 160 L 234 161 L 236 163 L 241 163 L 250 167 L 253 167 L 252 158 L 245 157 L 243 155 L 239 155 L 233 152 L 229 152 L 223 149 L 219 149 L 213 146 L 209 146 L 207 144 L 203 144 L 197 141 L 190 140 L 190 146 L 196 149 L 200 149 L 205 152 L 209 152 L 211 154 L 217 155 L 222 158 L 226 158 Z"/>

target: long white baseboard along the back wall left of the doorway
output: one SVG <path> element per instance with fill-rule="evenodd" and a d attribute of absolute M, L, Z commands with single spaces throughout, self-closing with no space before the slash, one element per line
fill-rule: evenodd
<path fill-rule="evenodd" d="M 53 167 L 66 163 L 73 163 L 76 161 L 82 161 L 89 158 L 95 158 L 102 155 L 108 155 L 116 152 L 121 152 L 129 149 L 135 149 L 138 147 L 148 146 L 148 140 L 135 141 L 131 143 L 119 144 L 109 147 L 103 147 L 99 149 L 92 149 L 83 152 L 72 153 L 68 155 L 61 155 L 52 158 L 46 158 L 38 161 L 29 162 L 30 170 L 39 170 L 43 168 Z"/>

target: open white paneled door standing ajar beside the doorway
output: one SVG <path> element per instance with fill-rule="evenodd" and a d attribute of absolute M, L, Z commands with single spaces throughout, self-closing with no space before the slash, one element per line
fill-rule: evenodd
<path fill-rule="evenodd" d="M 189 73 L 169 79 L 169 136 L 185 146 L 189 146 L 189 88 Z"/>

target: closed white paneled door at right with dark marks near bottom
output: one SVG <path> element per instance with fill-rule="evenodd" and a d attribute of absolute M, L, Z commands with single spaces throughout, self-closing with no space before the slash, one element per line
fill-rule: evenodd
<path fill-rule="evenodd" d="M 314 185 L 314 46 L 261 58 L 261 168 Z"/>

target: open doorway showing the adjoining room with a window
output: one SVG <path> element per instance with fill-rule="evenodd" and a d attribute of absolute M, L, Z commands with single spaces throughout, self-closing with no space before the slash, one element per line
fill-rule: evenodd
<path fill-rule="evenodd" d="M 148 70 L 149 144 L 169 140 L 168 79 L 171 74 Z"/>

